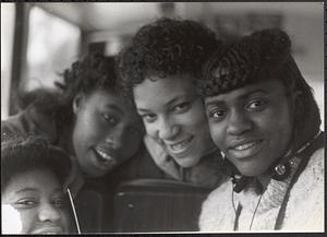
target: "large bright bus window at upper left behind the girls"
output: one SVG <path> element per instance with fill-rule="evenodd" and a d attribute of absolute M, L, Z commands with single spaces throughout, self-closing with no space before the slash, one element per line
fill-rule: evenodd
<path fill-rule="evenodd" d="M 53 87 L 59 73 L 80 54 L 81 29 L 49 12 L 33 7 L 29 12 L 28 43 L 23 91 Z"/>

